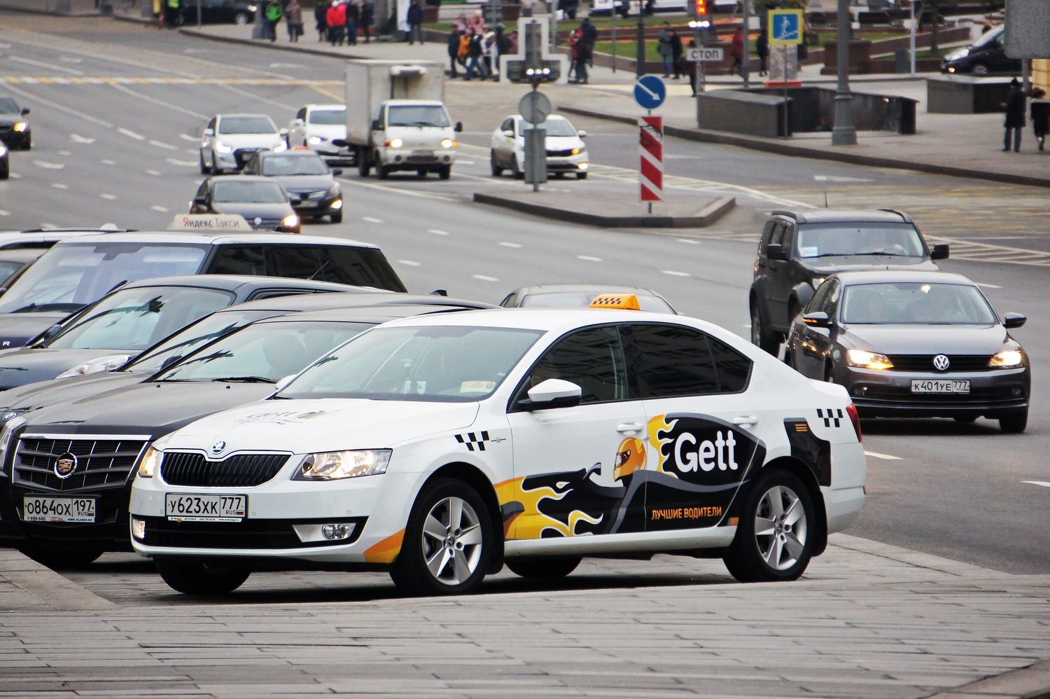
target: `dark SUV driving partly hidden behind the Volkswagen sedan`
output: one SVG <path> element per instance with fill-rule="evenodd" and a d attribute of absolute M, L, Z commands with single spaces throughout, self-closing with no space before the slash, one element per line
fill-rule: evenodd
<path fill-rule="evenodd" d="M 937 270 L 947 245 L 929 248 L 911 217 L 875 211 L 773 211 L 755 258 L 751 342 L 777 354 L 792 318 L 835 272 L 867 269 Z"/>

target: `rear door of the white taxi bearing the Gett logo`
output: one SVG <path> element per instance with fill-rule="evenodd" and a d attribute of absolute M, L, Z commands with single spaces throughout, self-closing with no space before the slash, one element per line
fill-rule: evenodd
<path fill-rule="evenodd" d="M 630 326 L 624 348 L 652 452 L 644 472 L 646 531 L 716 526 L 765 456 L 761 398 L 748 392 L 751 359 L 671 324 Z"/>

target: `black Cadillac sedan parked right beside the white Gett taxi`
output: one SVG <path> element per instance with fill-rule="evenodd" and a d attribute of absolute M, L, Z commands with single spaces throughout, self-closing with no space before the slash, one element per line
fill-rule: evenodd
<path fill-rule="evenodd" d="M 477 306 L 427 300 L 271 317 L 198 348 L 148 382 L 8 419 L 0 431 L 13 454 L 10 479 L 0 481 L 0 538 L 66 566 L 129 550 L 130 475 L 150 441 L 269 396 L 276 382 L 373 325 Z"/>

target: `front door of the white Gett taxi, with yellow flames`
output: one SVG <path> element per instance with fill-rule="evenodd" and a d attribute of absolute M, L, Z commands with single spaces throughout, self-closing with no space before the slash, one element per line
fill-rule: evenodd
<path fill-rule="evenodd" d="M 580 404 L 527 410 L 529 388 L 548 378 L 581 387 Z M 644 458 L 645 407 L 627 386 L 615 326 L 568 333 L 529 369 L 507 414 L 520 513 L 508 538 L 640 532 L 645 501 L 636 468 Z"/>

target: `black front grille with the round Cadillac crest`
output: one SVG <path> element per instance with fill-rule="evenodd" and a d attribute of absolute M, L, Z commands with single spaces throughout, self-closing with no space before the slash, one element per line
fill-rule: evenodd
<path fill-rule="evenodd" d="M 22 437 L 15 455 L 15 481 L 58 492 L 120 488 L 127 482 L 145 446 L 145 438 L 133 436 L 107 439 Z M 59 457 L 67 453 L 77 457 L 77 466 L 69 477 L 59 478 L 55 466 Z"/>

